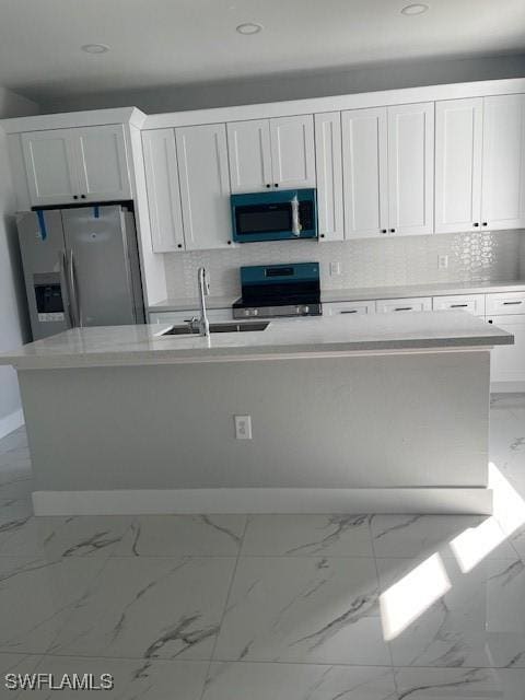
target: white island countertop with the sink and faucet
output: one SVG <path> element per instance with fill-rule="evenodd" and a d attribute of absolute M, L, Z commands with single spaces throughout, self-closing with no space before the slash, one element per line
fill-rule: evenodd
<path fill-rule="evenodd" d="M 352 353 L 476 349 L 513 336 L 465 312 L 373 314 L 279 320 L 266 330 L 162 336 L 170 325 L 73 328 L 4 354 L 19 370 L 225 362 Z"/>

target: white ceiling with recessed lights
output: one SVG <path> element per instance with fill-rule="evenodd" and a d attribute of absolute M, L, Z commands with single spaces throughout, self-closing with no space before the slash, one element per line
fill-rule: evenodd
<path fill-rule="evenodd" d="M 525 48 L 525 0 L 0 0 L 0 84 L 33 98 Z M 242 36 L 235 26 L 265 30 Z M 107 44 L 91 56 L 84 44 Z"/>

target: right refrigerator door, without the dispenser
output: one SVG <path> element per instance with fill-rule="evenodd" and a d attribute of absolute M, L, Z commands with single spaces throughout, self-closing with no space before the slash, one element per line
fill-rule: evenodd
<path fill-rule="evenodd" d="M 74 325 L 141 323 L 132 266 L 137 241 L 127 230 L 126 211 L 118 206 L 95 206 L 61 213 Z"/>

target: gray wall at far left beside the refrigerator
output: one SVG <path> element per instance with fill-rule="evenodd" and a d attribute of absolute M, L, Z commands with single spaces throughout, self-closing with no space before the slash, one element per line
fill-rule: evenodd
<path fill-rule="evenodd" d="M 35 103 L 0 86 L 0 118 L 37 112 Z M 0 352 L 11 350 L 28 339 L 14 209 L 7 140 L 0 128 Z M 20 408 L 16 374 L 11 368 L 0 368 L 0 430 L 2 419 Z"/>

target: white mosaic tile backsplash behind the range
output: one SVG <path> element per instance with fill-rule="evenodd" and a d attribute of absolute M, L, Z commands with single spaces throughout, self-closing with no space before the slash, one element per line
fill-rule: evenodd
<path fill-rule="evenodd" d="M 439 269 L 439 256 L 448 267 Z M 434 282 L 514 280 L 525 277 L 523 231 L 483 231 L 389 238 L 360 238 L 340 243 L 312 241 L 249 243 L 224 250 L 164 255 L 170 298 L 195 298 L 197 269 L 206 267 L 211 293 L 240 293 L 238 268 L 276 262 L 320 264 L 322 288 L 394 287 Z M 338 261 L 340 275 L 330 275 Z"/>

